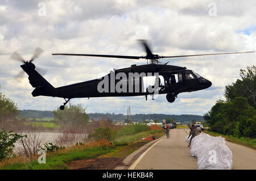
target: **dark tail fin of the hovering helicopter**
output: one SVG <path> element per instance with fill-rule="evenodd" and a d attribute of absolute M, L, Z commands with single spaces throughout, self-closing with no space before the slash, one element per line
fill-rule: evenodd
<path fill-rule="evenodd" d="M 33 96 L 54 96 L 55 88 L 35 70 L 35 66 L 23 64 L 20 67 L 28 74 L 31 86 L 35 87 L 34 91 L 32 91 Z"/>

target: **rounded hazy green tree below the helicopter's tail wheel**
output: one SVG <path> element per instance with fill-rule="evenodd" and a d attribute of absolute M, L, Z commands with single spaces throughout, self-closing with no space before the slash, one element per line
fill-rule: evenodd
<path fill-rule="evenodd" d="M 81 104 L 65 106 L 64 110 L 53 110 L 53 115 L 60 125 L 85 126 L 89 123 L 89 116 Z"/>

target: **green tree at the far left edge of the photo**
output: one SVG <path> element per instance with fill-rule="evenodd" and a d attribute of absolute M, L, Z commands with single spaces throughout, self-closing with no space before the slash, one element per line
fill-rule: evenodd
<path fill-rule="evenodd" d="M 9 98 L 0 92 L 0 123 L 4 120 L 14 119 L 19 114 L 18 107 Z"/>

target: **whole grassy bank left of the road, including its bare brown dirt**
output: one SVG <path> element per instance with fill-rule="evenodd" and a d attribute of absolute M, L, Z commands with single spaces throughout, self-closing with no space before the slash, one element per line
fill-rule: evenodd
<path fill-rule="evenodd" d="M 36 156 L 30 159 L 9 158 L 0 162 L 0 169 L 113 169 L 127 155 L 151 141 L 142 140 L 143 137 L 159 138 L 163 134 L 164 131 L 159 129 L 123 136 L 114 142 L 100 140 L 75 145 L 47 153 L 46 163 L 42 164 L 38 163 Z"/>

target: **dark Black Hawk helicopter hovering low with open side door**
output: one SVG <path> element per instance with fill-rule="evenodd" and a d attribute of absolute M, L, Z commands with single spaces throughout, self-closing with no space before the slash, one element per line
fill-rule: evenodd
<path fill-rule="evenodd" d="M 35 65 L 32 61 L 38 57 L 43 50 L 37 48 L 35 50 L 34 56 L 30 61 L 24 61 L 22 56 L 18 54 L 18 52 L 14 52 L 11 58 L 15 60 L 22 61 L 24 64 L 20 65 L 20 67 L 28 74 L 28 79 L 32 87 L 35 87 L 34 91 L 32 91 L 33 96 L 52 96 L 64 98 L 65 103 L 63 106 L 60 106 L 60 110 L 64 110 L 65 104 L 69 102 L 72 98 L 94 98 L 94 97 L 108 97 L 108 96 L 146 96 L 154 95 L 155 91 L 144 91 L 143 88 L 143 76 L 148 75 L 162 75 L 164 78 L 164 82 L 160 82 L 159 78 L 156 78 L 157 85 L 151 86 L 151 90 L 155 90 L 155 87 L 158 87 L 158 94 L 167 94 L 166 99 L 168 102 L 172 103 L 177 98 L 177 95 L 181 92 L 192 92 L 207 89 L 212 86 L 212 82 L 207 79 L 201 77 L 193 70 L 188 70 L 185 67 L 159 64 L 160 58 L 176 58 L 176 57 L 192 57 L 192 56 L 208 56 L 214 54 L 233 54 L 233 53 L 251 53 L 251 52 L 232 52 L 232 53 L 212 53 L 212 54 L 192 54 L 192 55 L 184 55 L 184 56 L 159 56 L 158 54 L 153 54 L 151 49 L 148 47 L 146 41 L 141 40 L 141 43 L 146 50 L 146 56 L 118 56 L 118 55 L 105 55 L 105 54 L 70 54 L 70 53 L 53 53 L 52 55 L 64 55 L 64 56 L 91 56 L 91 57 L 110 57 L 110 58 L 129 58 L 129 59 L 140 59 L 144 58 L 147 60 L 146 65 L 131 65 L 129 68 L 117 69 L 114 71 L 110 71 L 108 75 L 102 77 L 101 79 L 93 79 L 90 81 L 75 83 L 72 85 L 62 86 L 62 87 L 53 87 L 46 79 L 42 77 L 35 70 Z M 148 64 L 148 60 L 150 61 Z M 20 75 L 24 72 L 20 72 L 17 77 L 21 77 Z M 118 73 L 122 73 L 123 75 L 129 75 L 129 73 L 144 73 L 141 76 L 134 77 L 134 81 L 132 80 L 129 83 L 128 79 L 123 79 L 123 77 L 119 77 L 118 79 L 113 80 L 110 79 L 112 75 L 117 75 Z M 151 73 L 151 74 L 149 74 Z M 108 79 L 110 81 L 106 81 L 108 85 L 101 85 L 106 91 L 99 91 L 99 85 L 102 79 Z M 135 80 L 137 79 L 137 80 Z M 158 81 L 159 79 L 159 81 Z M 117 89 L 112 89 L 112 87 L 119 87 L 122 91 Z M 139 85 L 139 86 L 138 86 Z M 105 87 L 106 86 L 106 87 Z M 138 86 L 137 91 L 134 91 L 135 87 Z M 147 100 L 147 98 L 146 98 Z"/>

